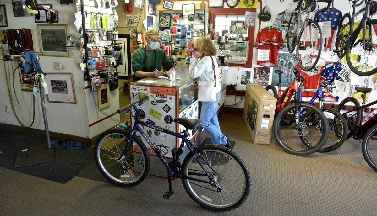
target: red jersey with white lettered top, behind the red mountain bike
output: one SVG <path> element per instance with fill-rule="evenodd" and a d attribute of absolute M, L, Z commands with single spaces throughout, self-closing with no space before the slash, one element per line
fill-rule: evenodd
<path fill-rule="evenodd" d="M 307 62 L 307 64 L 311 64 L 313 61 L 313 58 L 317 58 L 317 56 L 315 55 L 304 56 L 301 58 L 301 61 L 303 64 L 305 64 L 305 62 Z M 325 65 L 326 65 L 326 60 L 323 58 L 319 58 L 316 66 L 310 71 L 301 70 L 300 66 L 297 64 L 297 70 L 301 71 L 301 76 L 305 76 L 305 81 L 306 81 L 304 83 L 305 89 L 317 89 L 319 76 L 321 75 L 321 71 L 323 70 Z M 301 96 L 313 97 L 315 94 L 316 94 L 315 92 L 303 91 L 301 93 Z"/>

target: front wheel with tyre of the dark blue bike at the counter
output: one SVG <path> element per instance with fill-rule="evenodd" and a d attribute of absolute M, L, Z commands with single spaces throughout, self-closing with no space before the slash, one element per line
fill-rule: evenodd
<path fill-rule="evenodd" d="M 102 175 L 121 187 L 140 184 L 150 168 L 149 154 L 143 141 L 133 135 L 130 146 L 127 146 L 128 133 L 128 130 L 119 128 L 105 131 L 94 148 L 95 162 Z M 120 158 L 123 151 L 126 153 Z"/>

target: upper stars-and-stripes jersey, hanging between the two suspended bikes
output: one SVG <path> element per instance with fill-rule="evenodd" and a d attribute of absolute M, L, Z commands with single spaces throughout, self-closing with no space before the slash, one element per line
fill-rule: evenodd
<path fill-rule="evenodd" d="M 336 8 L 329 8 L 327 11 L 322 11 L 323 9 L 324 8 L 317 11 L 314 21 L 316 21 L 317 23 L 331 21 L 331 37 L 325 38 L 325 40 L 323 41 L 323 45 L 331 49 L 331 47 L 333 47 L 332 41 L 335 41 L 333 40 L 334 33 L 338 29 L 343 14 Z"/>

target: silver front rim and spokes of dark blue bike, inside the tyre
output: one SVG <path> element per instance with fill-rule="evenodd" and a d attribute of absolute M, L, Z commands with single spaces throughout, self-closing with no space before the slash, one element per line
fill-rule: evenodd
<path fill-rule="evenodd" d="M 123 165 L 124 163 L 115 162 L 116 156 L 118 156 L 118 158 L 119 158 L 120 154 L 124 150 L 124 149 L 121 149 L 121 147 L 116 148 L 116 144 L 115 143 L 118 143 L 118 141 L 115 141 L 115 138 L 117 138 L 116 136 L 119 136 L 120 137 L 119 139 L 123 140 L 124 146 L 126 145 L 126 140 L 124 138 L 124 134 L 113 133 L 113 134 L 108 134 L 105 137 L 103 137 L 101 139 L 101 141 L 100 141 L 100 145 L 97 148 L 98 165 L 101 167 L 102 171 L 106 174 L 106 176 L 108 176 L 109 178 L 113 179 L 114 181 L 119 182 L 119 183 L 127 183 L 127 184 L 134 183 L 134 182 L 138 181 L 141 178 L 141 176 L 143 175 L 143 173 L 145 171 L 145 168 L 146 168 L 146 166 L 145 166 L 146 157 L 145 157 L 145 155 L 143 154 L 142 151 L 137 152 L 139 154 L 142 154 L 143 163 L 144 163 L 143 165 L 144 166 L 141 166 L 141 164 L 140 164 L 141 162 L 139 164 L 135 164 L 135 163 L 132 164 L 132 162 L 126 162 L 126 167 L 125 167 L 125 166 L 121 166 L 120 165 L 120 164 Z M 110 138 L 110 137 L 112 137 L 112 138 Z M 109 139 L 110 141 L 108 141 L 106 144 L 108 146 L 112 146 L 113 145 L 114 146 L 113 148 L 116 148 L 116 149 L 114 149 L 114 151 L 110 151 L 109 148 L 107 148 L 107 149 L 101 148 L 102 144 L 104 143 L 104 141 L 105 141 L 106 138 L 110 138 Z M 127 155 L 127 154 L 125 155 L 126 160 L 129 160 L 129 161 L 131 159 L 130 157 L 134 156 L 135 153 L 136 153 L 136 151 L 133 151 L 133 147 L 137 146 L 136 149 L 140 149 L 140 146 L 135 142 L 135 140 L 132 139 L 132 143 L 133 143 L 133 146 L 131 146 L 130 150 L 132 150 L 133 154 L 132 155 Z M 110 148 L 110 149 L 113 149 L 113 148 Z M 104 152 L 106 152 L 104 154 L 107 155 L 109 158 L 101 156 L 101 149 L 106 150 L 106 151 L 104 151 Z M 113 155 L 111 155 L 111 154 L 113 154 Z M 106 161 L 103 161 L 103 160 L 106 160 Z M 132 160 L 135 161 L 135 158 L 132 158 Z M 117 165 L 116 163 L 118 164 L 118 167 L 116 167 L 116 165 Z M 135 165 L 138 165 L 139 167 L 142 167 L 142 169 L 136 168 Z M 106 168 L 106 167 L 108 167 L 108 168 Z M 122 173 L 122 169 L 123 169 L 123 173 L 124 173 L 123 176 L 122 176 L 122 174 L 120 174 L 119 178 L 116 178 L 112 174 L 112 173 L 115 173 L 115 171 L 118 171 L 118 169 L 116 169 L 116 168 L 120 168 L 120 173 Z M 126 169 L 128 169 L 127 171 L 130 171 L 130 169 L 134 169 L 134 170 L 137 170 L 137 172 L 128 172 L 127 173 Z M 137 174 L 137 176 L 135 176 L 135 173 L 139 173 L 139 174 Z M 128 175 L 128 174 L 132 174 L 132 175 Z M 126 180 L 122 180 L 121 178 L 126 179 Z M 132 178 L 132 180 L 131 181 L 127 181 L 127 178 Z"/>

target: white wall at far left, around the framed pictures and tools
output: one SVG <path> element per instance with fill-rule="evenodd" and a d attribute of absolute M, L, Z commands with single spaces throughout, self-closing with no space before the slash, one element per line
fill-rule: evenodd
<path fill-rule="evenodd" d="M 12 3 L 11 1 L 0 1 L 0 4 L 6 5 L 6 12 L 8 17 L 8 27 L 1 29 L 22 29 L 30 28 L 33 30 L 34 37 L 34 50 L 39 52 L 39 40 L 37 24 L 34 21 L 34 16 L 32 17 L 13 17 Z M 68 24 L 69 32 L 77 32 L 75 26 L 73 25 L 75 21 L 74 13 L 76 8 L 74 4 L 70 5 L 60 5 L 56 0 L 44 0 L 43 4 L 51 4 L 52 8 L 59 11 L 59 23 L 58 24 Z M 77 33 L 78 34 L 78 33 Z M 76 49 L 73 51 L 74 56 L 77 58 L 78 62 L 81 62 L 80 50 Z M 54 61 L 61 62 L 62 70 L 54 70 Z M 8 65 L 11 65 L 8 63 Z M 89 121 L 86 105 L 86 94 L 84 90 L 84 78 L 83 72 L 80 70 L 79 64 L 75 61 L 73 55 L 70 58 L 62 57 L 51 57 L 51 56 L 41 56 L 40 65 L 45 73 L 73 73 L 73 79 L 75 84 L 76 93 L 76 104 L 69 103 L 49 103 L 46 99 L 46 110 L 47 118 L 49 123 L 49 129 L 53 132 L 60 132 L 64 134 L 70 134 L 80 137 L 89 137 Z M 12 67 L 7 67 L 8 77 L 11 79 L 13 69 Z M 12 80 L 10 80 L 11 83 Z M 12 84 L 11 84 L 12 85 Z M 20 100 L 21 109 L 18 108 L 17 102 L 15 101 L 13 89 L 11 86 L 13 101 L 15 105 L 15 110 L 20 120 L 24 124 L 29 124 L 32 120 L 32 93 L 20 90 L 20 79 L 18 74 L 15 75 L 15 89 L 17 91 L 18 99 Z M 8 90 L 6 88 L 5 70 L 3 63 L 0 64 L 0 122 L 20 125 L 12 110 L 11 103 L 8 97 Z M 5 106 L 8 106 L 9 113 L 5 112 Z M 44 130 L 43 116 L 41 111 L 41 104 L 38 94 L 38 99 L 36 99 L 35 104 L 35 122 L 32 128 Z"/>

